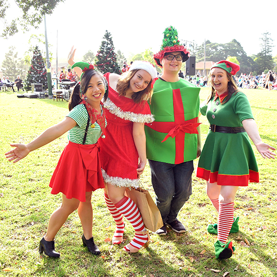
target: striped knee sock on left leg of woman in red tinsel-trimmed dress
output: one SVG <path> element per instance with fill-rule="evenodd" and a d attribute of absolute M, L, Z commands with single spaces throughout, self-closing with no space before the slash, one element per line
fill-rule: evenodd
<path fill-rule="evenodd" d="M 123 217 L 121 212 L 118 211 L 114 206 L 114 204 L 111 202 L 111 200 L 109 199 L 109 196 L 106 193 L 104 193 L 104 195 L 105 195 L 105 202 L 108 207 L 108 210 L 110 211 L 116 224 L 116 229 L 113 234 L 112 241 L 113 242 L 115 241 L 114 244 L 120 244 L 123 241 L 123 233 L 124 233 Z"/>

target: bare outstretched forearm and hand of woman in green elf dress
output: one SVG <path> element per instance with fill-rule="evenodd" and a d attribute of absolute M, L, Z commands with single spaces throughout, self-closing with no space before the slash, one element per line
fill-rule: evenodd
<path fill-rule="evenodd" d="M 243 127 L 246 130 L 247 134 L 251 138 L 252 142 L 256 146 L 257 150 L 260 152 L 262 157 L 265 159 L 266 157 L 268 159 L 275 159 L 274 156 L 276 155 L 271 150 L 276 150 L 274 147 L 263 143 L 262 139 L 260 137 L 258 127 L 255 123 L 255 121 L 252 118 L 249 118 L 247 120 L 242 121 Z"/>

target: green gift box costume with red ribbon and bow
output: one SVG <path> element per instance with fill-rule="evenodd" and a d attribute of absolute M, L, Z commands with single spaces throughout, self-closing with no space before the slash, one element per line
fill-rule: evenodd
<path fill-rule="evenodd" d="M 149 160 L 181 164 L 196 159 L 199 92 L 182 78 L 175 83 L 156 80 L 150 104 L 155 121 L 145 127 Z"/>

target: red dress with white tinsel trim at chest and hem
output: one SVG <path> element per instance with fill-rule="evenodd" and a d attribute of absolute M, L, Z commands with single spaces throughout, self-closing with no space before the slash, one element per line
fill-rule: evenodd
<path fill-rule="evenodd" d="M 106 77 L 109 83 L 109 74 Z M 138 187 L 138 153 L 133 140 L 133 122 L 151 123 L 154 117 L 147 101 L 140 104 L 109 85 L 109 98 L 104 103 L 108 125 L 105 138 L 99 139 L 103 178 L 106 183 L 121 187 Z"/>

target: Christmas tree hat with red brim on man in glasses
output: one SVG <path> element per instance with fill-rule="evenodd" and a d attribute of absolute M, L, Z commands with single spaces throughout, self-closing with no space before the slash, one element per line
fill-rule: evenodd
<path fill-rule="evenodd" d="M 154 60 L 158 66 L 161 66 L 160 59 L 164 57 L 165 53 L 181 51 L 183 55 L 183 63 L 186 62 L 189 58 L 189 51 L 184 47 L 184 45 L 180 44 L 178 39 L 177 30 L 170 26 L 164 31 L 164 39 L 160 52 L 154 55 Z"/>

